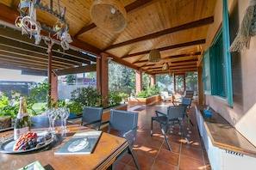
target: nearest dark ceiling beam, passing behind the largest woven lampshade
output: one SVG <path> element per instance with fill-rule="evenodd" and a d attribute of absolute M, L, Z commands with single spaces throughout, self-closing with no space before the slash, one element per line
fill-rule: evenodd
<path fill-rule="evenodd" d="M 146 5 L 154 3 L 154 2 L 156 2 L 156 0 L 137 0 L 134 3 L 130 3 L 127 6 L 125 6 L 124 9 L 129 14 L 131 12 L 134 12 L 134 10 L 141 9 L 141 8 L 145 7 Z M 78 31 L 78 33 L 76 33 L 74 35 L 74 38 L 78 38 L 78 36 L 80 34 L 85 33 L 85 32 L 87 32 L 87 31 L 89 31 L 89 30 L 91 30 L 95 27 L 97 27 L 97 25 L 95 23 L 91 23 L 89 25 L 86 25 L 86 26 L 82 27 Z"/>

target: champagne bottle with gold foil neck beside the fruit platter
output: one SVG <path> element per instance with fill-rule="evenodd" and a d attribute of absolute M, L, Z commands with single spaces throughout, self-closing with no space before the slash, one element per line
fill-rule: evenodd
<path fill-rule="evenodd" d="M 20 99 L 20 109 L 16 117 L 14 125 L 14 140 L 18 139 L 22 134 L 30 131 L 31 122 L 27 111 L 26 98 Z"/>

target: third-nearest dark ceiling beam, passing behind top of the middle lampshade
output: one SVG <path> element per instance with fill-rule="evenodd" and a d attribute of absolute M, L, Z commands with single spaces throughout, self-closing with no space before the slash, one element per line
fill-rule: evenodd
<path fill-rule="evenodd" d="M 186 42 L 186 43 L 182 43 L 182 44 L 178 44 L 178 45 L 172 45 L 172 46 L 165 46 L 165 47 L 157 48 L 157 50 L 159 50 L 159 52 L 162 52 L 162 51 L 172 50 L 172 49 L 175 49 L 175 48 L 181 48 L 181 47 L 185 47 L 185 46 L 202 45 L 204 43 L 205 43 L 205 39 L 199 39 L 199 40 L 190 41 L 190 42 Z M 149 52 L 150 52 L 150 50 L 144 51 L 144 52 L 136 52 L 136 53 L 133 53 L 133 54 L 128 54 L 127 56 L 122 57 L 122 59 L 149 54 Z M 136 62 L 134 62 L 134 63 L 136 63 Z"/>

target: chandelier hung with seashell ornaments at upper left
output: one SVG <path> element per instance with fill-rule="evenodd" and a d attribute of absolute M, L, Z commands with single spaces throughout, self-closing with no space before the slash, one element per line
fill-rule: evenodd
<path fill-rule="evenodd" d="M 66 7 L 60 11 L 58 0 L 59 11 L 53 11 L 53 0 L 50 0 L 50 3 L 51 7 L 49 8 L 47 4 L 44 5 L 43 3 L 40 3 L 40 0 L 20 0 L 20 16 L 16 18 L 16 27 L 22 29 L 22 34 L 29 34 L 30 39 L 34 37 L 34 44 L 36 45 L 39 45 L 41 39 L 44 39 L 44 42 L 48 46 L 47 52 L 50 52 L 53 46 L 53 40 L 50 37 L 50 33 L 53 33 L 53 36 L 56 36 L 56 39 L 60 40 L 60 46 L 64 50 L 68 50 L 69 43 L 72 43 L 72 38 L 68 33 L 69 26 L 65 19 Z M 44 10 L 57 18 L 53 27 L 47 27 L 46 24 L 41 25 L 41 23 L 36 20 L 36 9 Z M 41 37 L 41 30 L 49 33 L 49 37 Z"/>

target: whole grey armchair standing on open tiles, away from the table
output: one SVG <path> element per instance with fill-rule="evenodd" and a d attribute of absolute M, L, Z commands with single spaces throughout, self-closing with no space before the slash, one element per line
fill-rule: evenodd
<path fill-rule="evenodd" d="M 168 142 L 168 139 L 166 137 L 168 128 L 174 124 L 178 124 L 181 131 L 183 132 L 184 138 L 188 144 L 190 144 L 190 141 L 184 132 L 184 127 L 182 124 L 182 121 L 184 120 L 186 106 L 180 105 L 180 106 L 168 106 L 167 112 L 159 112 L 155 111 L 156 116 L 151 118 L 151 137 L 153 137 L 153 121 L 157 121 L 160 125 L 162 134 L 165 137 L 165 142 L 167 143 L 167 147 L 170 151 L 172 151 L 170 143 Z"/>

